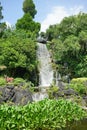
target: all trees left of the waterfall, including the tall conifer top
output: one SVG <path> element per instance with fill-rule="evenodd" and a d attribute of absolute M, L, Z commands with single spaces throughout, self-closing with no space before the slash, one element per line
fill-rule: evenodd
<path fill-rule="evenodd" d="M 33 20 L 36 9 L 32 0 L 24 1 L 23 11 L 24 15 L 17 20 L 16 28 L 6 27 L 0 33 L 0 66 L 5 68 L 1 71 L 1 75 L 22 77 L 37 85 L 37 45 L 35 41 L 40 30 L 40 23 Z M 0 19 L 2 18 L 2 6 L 0 5 Z"/>

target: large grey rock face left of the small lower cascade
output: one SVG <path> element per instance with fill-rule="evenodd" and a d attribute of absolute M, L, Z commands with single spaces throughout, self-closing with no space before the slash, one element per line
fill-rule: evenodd
<path fill-rule="evenodd" d="M 11 103 L 15 105 L 26 105 L 32 101 L 32 94 L 27 88 L 23 89 L 22 87 L 11 85 L 0 87 L 0 104 Z"/>

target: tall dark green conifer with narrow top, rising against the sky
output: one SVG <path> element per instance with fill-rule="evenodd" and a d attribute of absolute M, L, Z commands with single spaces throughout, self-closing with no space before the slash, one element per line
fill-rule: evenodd
<path fill-rule="evenodd" d="M 23 3 L 24 15 L 22 18 L 17 20 L 16 28 L 31 31 L 38 34 L 40 31 L 40 23 L 33 20 L 36 10 L 32 0 L 25 0 Z"/>

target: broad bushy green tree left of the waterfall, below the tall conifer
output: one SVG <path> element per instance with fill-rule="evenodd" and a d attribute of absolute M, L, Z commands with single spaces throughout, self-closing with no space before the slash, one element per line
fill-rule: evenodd
<path fill-rule="evenodd" d="M 32 33 L 26 33 L 24 30 L 8 30 L 0 44 L 0 65 L 7 67 L 8 75 L 21 76 L 35 82 L 36 49 L 37 45 L 34 39 L 32 40 Z"/>

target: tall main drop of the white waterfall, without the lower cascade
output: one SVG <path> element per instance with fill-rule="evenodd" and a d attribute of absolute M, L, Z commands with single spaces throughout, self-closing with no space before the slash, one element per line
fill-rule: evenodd
<path fill-rule="evenodd" d="M 53 80 L 51 58 L 46 44 L 38 43 L 37 57 L 39 60 L 39 86 L 50 86 Z"/>

